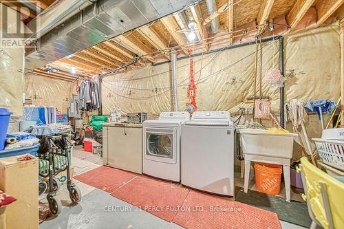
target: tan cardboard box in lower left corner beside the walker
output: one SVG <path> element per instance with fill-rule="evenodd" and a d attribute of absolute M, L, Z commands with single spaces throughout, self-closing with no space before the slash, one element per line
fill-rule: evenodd
<path fill-rule="evenodd" d="M 23 157 L 30 157 L 23 161 Z M 39 163 L 32 155 L 0 159 L 0 189 L 17 201 L 2 212 L 7 229 L 39 228 Z"/>

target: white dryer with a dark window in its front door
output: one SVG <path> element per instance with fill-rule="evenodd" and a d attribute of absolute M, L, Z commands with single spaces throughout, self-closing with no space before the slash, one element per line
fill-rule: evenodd
<path fill-rule="evenodd" d="M 142 172 L 180 182 L 180 129 L 188 112 L 162 112 L 158 120 L 143 122 Z"/>

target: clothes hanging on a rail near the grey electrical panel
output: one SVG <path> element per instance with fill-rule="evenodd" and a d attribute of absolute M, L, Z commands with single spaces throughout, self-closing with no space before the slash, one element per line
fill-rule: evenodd
<path fill-rule="evenodd" d="M 98 109 L 99 102 L 99 90 L 98 85 L 93 80 L 83 80 L 79 87 L 79 100 L 80 109 L 92 111 Z"/>

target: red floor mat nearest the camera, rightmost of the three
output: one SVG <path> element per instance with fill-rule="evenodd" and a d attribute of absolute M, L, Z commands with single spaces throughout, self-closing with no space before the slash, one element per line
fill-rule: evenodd
<path fill-rule="evenodd" d="M 277 215 L 191 190 L 173 223 L 184 228 L 281 228 Z"/>

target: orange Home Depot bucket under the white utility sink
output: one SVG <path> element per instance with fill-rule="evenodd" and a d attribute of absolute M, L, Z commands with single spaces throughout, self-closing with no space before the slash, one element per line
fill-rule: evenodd
<path fill-rule="evenodd" d="M 255 162 L 255 182 L 261 193 L 279 195 L 281 192 L 282 166 Z"/>

